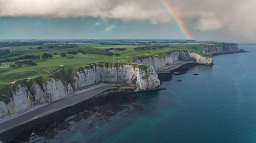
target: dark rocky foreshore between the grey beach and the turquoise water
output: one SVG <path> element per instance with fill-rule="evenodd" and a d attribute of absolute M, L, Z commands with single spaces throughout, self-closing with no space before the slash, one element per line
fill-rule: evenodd
<path fill-rule="evenodd" d="M 158 89 L 159 90 L 159 89 Z M 151 91 L 153 92 L 153 91 Z M 106 121 L 118 112 L 127 109 L 120 104 L 133 102 L 137 93 L 133 88 L 120 87 L 108 90 L 76 105 L 58 110 L 48 116 L 24 123 L 0 134 L 2 142 L 36 142 L 40 137 L 53 138 L 60 130 L 69 130 L 72 123 L 97 117 L 96 121 Z M 136 107 L 141 108 L 141 107 Z M 94 126 L 88 124 L 88 129 Z M 35 135 L 33 135 L 35 134 Z"/>

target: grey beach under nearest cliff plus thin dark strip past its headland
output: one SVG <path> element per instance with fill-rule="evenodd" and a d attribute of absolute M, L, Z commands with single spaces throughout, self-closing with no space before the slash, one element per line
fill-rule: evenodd
<path fill-rule="evenodd" d="M 121 87 L 118 87 L 121 86 Z M 112 91 L 117 90 L 117 91 Z M 109 91 L 113 94 L 117 92 L 122 92 L 123 94 L 132 94 L 132 93 L 141 93 L 145 91 L 135 91 L 136 88 L 126 87 L 123 85 L 111 85 L 111 84 L 96 84 L 92 87 L 78 90 L 75 94 L 70 95 L 69 97 L 60 99 L 58 101 L 52 103 L 46 103 L 44 105 L 40 105 L 38 107 L 34 107 L 28 109 L 27 111 L 15 115 L 10 118 L 3 119 L 0 121 L 0 135 L 5 131 L 9 131 L 11 129 L 15 129 L 19 125 L 24 125 L 33 121 L 35 119 L 39 119 L 42 117 L 47 117 L 51 113 L 55 113 L 62 109 L 68 108 L 70 106 L 77 105 L 83 101 L 87 101 L 90 98 L 100 97 L 102 94 L 109 94 Z M 154 90 L 147 90 L 146 92 L 155 92 L 163 90 L 162 88 L 157 88 Z M 1 141 L 1 140 L 0 140 Z"/>

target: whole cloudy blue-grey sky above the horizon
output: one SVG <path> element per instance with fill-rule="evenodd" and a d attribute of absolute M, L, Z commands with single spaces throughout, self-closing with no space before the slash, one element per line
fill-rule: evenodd
<path fill-rule="evenodd" d="M 255 0 L 0 0 L 0 39 L 256 42 L 255 13 Z"/>

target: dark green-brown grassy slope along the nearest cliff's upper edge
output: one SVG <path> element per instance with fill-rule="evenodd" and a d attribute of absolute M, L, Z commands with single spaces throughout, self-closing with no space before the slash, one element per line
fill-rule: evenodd
<path fill-rule="evenodd" d="M 38 76 L 31 79 L 23 79 L 23 80 L 17 80 L 15 83 L 7 83 L 0 85 L 0 101 L 5 102 L 6 104 L 10 102 L 10 99 L 12 98 L 13 93 L 17 89 L 18 85 L 20 84 L 21 87 L 26 87 L 28 91 L 30 91 L 30 88 L 34 83 L 37 83 L 42 90 L 44 90 L 43 83 L 46 81 L 50 81 L 52 78 L 56 81 L 60 80 L 63 84 L 68 85 L 68 83 L 73 86 L 74 84 L 74 77 L 76 77 L 77 71 L 83 71 L 84 69 L 95 69 L 96 67 L 109 67 L 109 68 L 117 68 L 124 65 L 131 65 L 134 68 L 139 68 L 140 70 L 144 70 L 147 72 L 148 66 L 133 64 L 133 63 L 97 63 L 97 64 L 90 64 L 87 66 L 83 66 L 80 68 L 71 68 L 71 67 L 63 67 L 59 68 L 58 70 L 43 76 Z M 75 89 L 74 87 L 72 87 Z M 27 91 L 27 92 L 28 92 Z M 34 94 L 31 93 L 34 97 Z"/>

